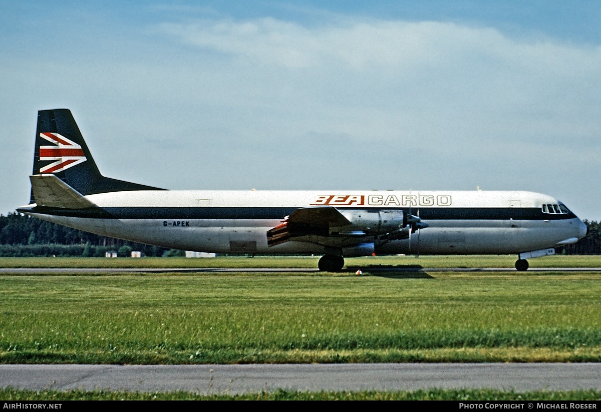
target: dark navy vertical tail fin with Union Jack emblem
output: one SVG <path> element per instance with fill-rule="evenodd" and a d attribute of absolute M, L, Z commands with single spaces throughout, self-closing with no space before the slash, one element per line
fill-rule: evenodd
<path fill-rule="evenodd" d="M 38 112 L 32 175 L 47 174 L 54 175 L 67 187 L 84 196 L 124 190 L 164 190 L 100 174 L 71 111 L 67 109 Z M 50 180 L 44 178 L 40 181 Z M 53 187 L 58 186 L 54 184 Z M 35 203 L 33 189 L 34 186 L 30 203 Z"/>

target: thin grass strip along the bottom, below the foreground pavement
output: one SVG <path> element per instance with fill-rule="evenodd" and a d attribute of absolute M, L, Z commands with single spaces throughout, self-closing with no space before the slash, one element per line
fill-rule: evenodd
<path fill-rule="evenodd" d="M 601 392 L 596 390 L 573 391 L 531 391 L 531 392 L 504 392 L 493 389 L 459 389 L 459 390 L 416 390 L 416 391 L 362 391 L 362 392 L 299 392 L 278 389 L 273 392 L 245 393 L 243 395 L 229 395 L 227 393 L 215 395 L 198 395 L 190 392 L 121 392 L 108 390 L 82 391 L 69 390 L 66 392 L 44 390 L 17 390 L 13 388 L 0 389 L 0 399 L 4 401 L 597 401 Z"/>

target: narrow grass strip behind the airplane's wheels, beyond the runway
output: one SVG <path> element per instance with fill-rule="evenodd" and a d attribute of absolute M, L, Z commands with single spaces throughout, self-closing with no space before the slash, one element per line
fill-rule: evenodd
<path fill-rule="evenodd" d="M 4 268 L 317 268 L 320 256 L 256 256 L 218 258 L 0 258 Z M 347 258 L 347 267 L 506 267 L 514 268 L 517 256 L 476 255 L 476 256 L 371 256 L 367 258 Z M 531 267 L 601 267 L 598 255 L 555 255 L 529 259 Z"/>

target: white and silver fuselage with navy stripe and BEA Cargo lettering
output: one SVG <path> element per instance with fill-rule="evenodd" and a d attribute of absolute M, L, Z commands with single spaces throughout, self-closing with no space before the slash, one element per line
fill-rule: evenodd
<path fill-rule="evenodd" d="M 366 235 L 357 244 L 373 249 L 351 247 L 345 256 L 522 253 L 574 243 L 586 233 L 578 217 L 563 205 L 558 209 L 557 199 L 532 192 L 133 190 L 85 198 L 97 211 L 31 205 L 26 213 L 100 235 L 216 253 L 325 253 L 307 241 L 267 245 L 266 232 L 292 211 L 320 205 L 341 213 L 403 210 L 427 223 L 401 240 Z"/>

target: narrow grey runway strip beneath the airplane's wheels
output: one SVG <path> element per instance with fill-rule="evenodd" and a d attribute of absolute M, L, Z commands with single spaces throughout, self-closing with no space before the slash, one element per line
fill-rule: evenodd
<path fill-rule="evenodd" d="M 490 272 L 516 272 L 515 268 L 429 268 L 429 267 L 352 267 L 343 270 L 349 273 L 355 273 L 356 270 L 362 270 L 365 273 L 441 273 L 441 272 L 469 272 L 469 273 L 490 273 Z M 601 272 L 601 267 L 533 267 L 528 271 L 519 272 L 527 274 L 529 272 Z M 317 268 L 0 268 L 0 275 L 19 274 L 19 275 L 44 275 L 44 274 L 119 274 L 119 273 L 317 273 Z"/>

